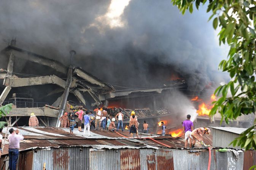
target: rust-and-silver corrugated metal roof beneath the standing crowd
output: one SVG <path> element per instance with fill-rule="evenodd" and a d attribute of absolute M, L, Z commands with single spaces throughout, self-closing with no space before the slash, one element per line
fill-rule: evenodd
<path fill-rule="evenodd" d="M 16 129 L 16 128 L 14 128 Z M 88 147 L 95 149 L 159 149 L 167 148 L 153 140 L 143 138 L 128 138 L 129 132 L 119 132 L 127 138 L 110 131 L 91 131 L 91 137 L 82 137 L 83 133 L 75 130 L 74 134 L 69 133 L 68 128 L 55 127 L 18 127 L 24 140 L 20 142 L 20 151 L 28 149 L 60 148 L 60 147 Z M 6 132 L 6 128 L 4 129 Z M 9 133 L 9 132 L 7 132 Z M 3 135 L 4 136 L 4 135 Z M 171 148 L 184 148 L 184 140 L 181 138 L 151 137 L 154 140 L 170 146 Z M 205 138 L 205 137 L 204 137 Z M 205 143 L 211 144 L 211 137 L 205 138 Z M 209 141 L 209 142 L 208 142 Z M 196 147 L 201 147 L 196 143 Z M 8 153 L 8 142 L 6 142 L 3 154 Z M 151 159 L 151 158 L 150 158 Z M 152 158 L 153 159 L 153 158 Z"/>

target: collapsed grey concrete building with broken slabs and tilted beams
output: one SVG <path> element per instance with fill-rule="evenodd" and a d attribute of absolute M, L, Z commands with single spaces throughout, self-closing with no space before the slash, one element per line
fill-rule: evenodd
<path fill-rule="evenodd" d="M 0 51 L 0 105 L 13 103 L 13 110 L 7 115 L 12 117 L 11 126 L 27 126 L 30 113 L 38 116 L 41 126 L 56 126 L 66 100 L 71 105 L 82 105 L 90 110 L 115 102 L 124 103 L 126 108 L 150 106 L 151 110 L 156 110 L 161 97 L 154 94 L 186 89 L 186 82 L 182 80 L 157 88 L 116 90 L 82 68 L 74 67 L 72 62 L 65 66 L 17 48 L 15 44 L 16 40 L 12 40 L 11 45 Z M 140 105 L 142 98 L 146 102 Z M 133 105 L 128 105 L 127 100 Z M 6 116 L 2 118 L 5 119 L 7 121 Z"/>

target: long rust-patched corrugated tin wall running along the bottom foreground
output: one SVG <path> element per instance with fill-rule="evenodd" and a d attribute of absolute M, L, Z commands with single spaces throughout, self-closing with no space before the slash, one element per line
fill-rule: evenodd
<path fill-rule="evenodd" d="M 47 170 L 205 170 L 208 166 L 208 151 L 205 149 L 90 149 L 48 148 L 21 153 L 19 169 Z M 251 157 L 248 152 L 245 158 Z M 253 153 L 255 156 L 255 153 Z M 211 170 L 242 170 L 247 168 L 243 153 L 238 160 L 232 152 L 211 151 Z M 254 157 L 255 158 L 255 157 Z M 2 160 L 2 159 L 1 159 Z M 27 164 L 21 163 L 22 161 Z M 253 161 L 252 161 L 253 162 Z M 251 164 L 250 164 L 251 165 Z M 248 166 L 250 166 L 248 164 Z"/>

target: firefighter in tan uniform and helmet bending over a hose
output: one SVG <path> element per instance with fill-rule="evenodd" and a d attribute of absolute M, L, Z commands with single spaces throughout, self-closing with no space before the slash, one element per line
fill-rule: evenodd
<path fill-rule="evenodd" d="M 203 141 L 203 135 L 210 135 L 211 130 L 209 128 L 206 127 L 199 127 L 197 129 L 194 129 L 192 131 L 192 138 L 193 138 L 193 142 L 192 142 L 192 148 L 194 148 L 195 144 L 196 144 L 196 140 L 198 140 L 200 142 L 200 144 L 202 145 L 203 148 L 208 148 L 210 145 L 206 145 Z"/>

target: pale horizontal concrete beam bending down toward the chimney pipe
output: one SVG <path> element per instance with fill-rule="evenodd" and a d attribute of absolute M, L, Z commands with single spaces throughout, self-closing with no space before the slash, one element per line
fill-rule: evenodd
<path fill-rule="evenodd" d="M 57 84 L 58 86 L 65 88 L 66 82 L 55 76 L 38 76 L 30 78 L 6 78 L 9 81 L 5 81 L 5 85 L 10 85 L 11 87 L 23 87 L 23 86 L 35 86 L 41 84 Z"/>

